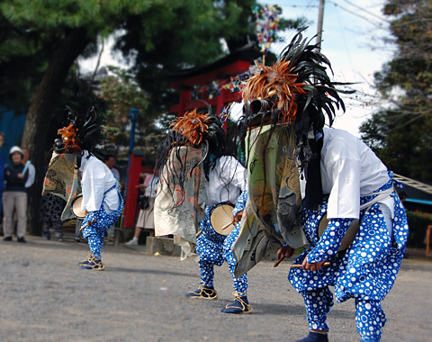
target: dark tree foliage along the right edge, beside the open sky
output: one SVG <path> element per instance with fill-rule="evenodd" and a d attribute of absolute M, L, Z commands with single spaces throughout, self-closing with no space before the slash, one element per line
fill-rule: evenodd
<path fill-rule="evenodd" d="M 389 104 L 363 123 L 362 139 L 394 172 L 432 184 L 432 6 L 387 0 L 383 13 L 396 50 L 375 85 Z"/>

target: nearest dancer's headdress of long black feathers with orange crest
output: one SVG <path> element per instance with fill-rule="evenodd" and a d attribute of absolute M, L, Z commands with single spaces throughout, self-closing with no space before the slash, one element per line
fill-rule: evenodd
<path fill-rule="evenodd" d="M 303 40 L 302 31 L 294 36 L 273 66 L 258 63 L 261 71 L 247 80 L 242 89 L 245 106 L 238 122 L 238 136 L 270 124 L 266 149 L 277 124 L 293 126 L 294 156 L 302 168 L 308 166 L 306 202 L 308 193 L 317 193 L 312 195 L 315 198 L 310 205 L 316 208 L 322 197 L 320 151 L 326 115 L 331 126 L 336 110 L 341 108 L 345 112 L 338 93 L 353 92 L 337 89 L 338 85 L 348 84 L 331 81 L 328 70 L 331 73 L 333 70 L 329 59 L 320 53 L 318 45 Z"/>

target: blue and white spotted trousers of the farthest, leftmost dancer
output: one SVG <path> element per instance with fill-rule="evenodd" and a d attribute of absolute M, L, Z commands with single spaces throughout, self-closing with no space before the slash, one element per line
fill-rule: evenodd
<path fill-rule="evenodd" d="M 119 194 L 119 208 L 117 211 L 113 211 L 110 213 L 107 213 L 105 211 L 105 208 L 103 206 L 103 202 L 105 200 L 105 194 L 109 191 L 116 190 Z M 117 187 L 116 184 L 112 185 L 110 189 L 105 191 L 103 193 L 103 200 L 101 209 L 98 211 L 90 211 L 83 220 L 83 223 L 81 227 L 84 227 L 87 222 L 95 222 L 91 224 L 88 227 L 85 227 L 83 229 L 83 237 L 87 239 L 88 247 L 90 248 L 90 251 L 92 252 L 93 256 L 100 259 L 101 258 L 101 250 L 103 247 L 103 233 L 110 229 L 117 220 L 119 220 L 119 217 L 121 215 L 121 211 L 123 210 L 123 198 L 121 197 L 121 193 Z"/>

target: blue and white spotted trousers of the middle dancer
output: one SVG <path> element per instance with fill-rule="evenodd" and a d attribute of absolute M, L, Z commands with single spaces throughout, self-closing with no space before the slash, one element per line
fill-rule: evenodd
<path fill-rule="evenodd" d="M 238 202 L 234 210 L 236 214 L 245 208 L 247 201 L 247 191 L 244 191 L 238 197 Z M 211 228 L 210 221 L 211 207 L 205 208 L 205 218 L 201 221 L 202 234 L 196 241 L 196 253 L 200 257 L 200 275 L 202 282 L 208 287 L 213 287 L 214 266 L 221 266 L 224 261 L 229 265 L 229 272 L 232 275 L 234 290 L 239 295 L 247 293 L 247 275 L 242 275 L 236 279 L 234 269 L 236 267 L 236 259 L 231 252 L 231 246 L 238 238 L 240 230 L 240 222 L 238 222 L 229 236 L 225 237 L 218 234 Z"/>

